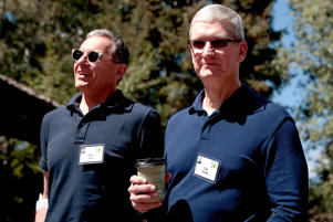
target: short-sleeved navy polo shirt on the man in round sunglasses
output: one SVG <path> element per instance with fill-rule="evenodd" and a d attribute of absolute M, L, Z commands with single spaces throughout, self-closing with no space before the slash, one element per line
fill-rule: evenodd
<path fill-rule="evenodd" d="M 117 91 L 82 115 L 75 95 L 43 118 L 40 167 L 49 171 L 46 221 L 139 221 L 129 202 L 135 159 L 163 156 L 158 114 Z M 102 163 L 80 165 L 81 146 L 104 146 Z"/>

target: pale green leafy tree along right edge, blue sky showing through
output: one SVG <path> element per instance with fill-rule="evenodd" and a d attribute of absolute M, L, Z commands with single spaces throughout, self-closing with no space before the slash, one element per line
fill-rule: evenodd
<path fill-rule="evenodd" d="M 310 190 L 310 214 L 314 220 L 331 214 L 333 220 L 333 2 L 290 0 L 290 4 L 298 41 L 291 49 L 281 49 L 278 63 L 290 64 L 292 75 L 302 73 L 308 80 L 299 107 L 300 130 L 309 150 L 322 150 L 319 182 L 312 181 Z"/>

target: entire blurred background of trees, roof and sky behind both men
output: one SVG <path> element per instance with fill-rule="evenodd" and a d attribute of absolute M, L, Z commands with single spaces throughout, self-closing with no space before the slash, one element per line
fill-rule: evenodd
<path fill-rule="evenodd" d="M 295 118 L 311 178 L 309 222 L 333 221 L 332 0 L 0 0 L 0 222 L 33 221 L 41 119 L 76 93 L 71 50 L 85 34 L 106 28 L 124 38 L 131 64 L 119 88 L 165 126 L 201 89 L 188 25 L 208 3 L 242 17 L 241 81 Z"/>

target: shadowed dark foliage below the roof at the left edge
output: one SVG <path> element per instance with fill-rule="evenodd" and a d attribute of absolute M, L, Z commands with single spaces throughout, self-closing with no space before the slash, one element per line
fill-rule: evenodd
<path fill-rule="evenodd" d="M 42 187 L 39 156 L 37 146 L 0 137 L 0 221 L 33 221 L 37 188 Z"/>

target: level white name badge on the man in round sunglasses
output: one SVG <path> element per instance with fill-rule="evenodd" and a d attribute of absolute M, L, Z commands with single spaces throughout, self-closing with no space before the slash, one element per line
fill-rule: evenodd
<path fill-rule="evenodd" d="M 104 161 L 104 145 L 80 146 L 80 165 L 101 163 Z"/>

